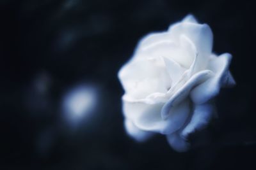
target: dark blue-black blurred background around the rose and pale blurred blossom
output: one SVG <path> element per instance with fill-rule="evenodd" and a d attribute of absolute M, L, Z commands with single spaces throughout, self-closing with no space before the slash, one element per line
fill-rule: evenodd
<path fill-rule="evenodd" d="M 232 53 L 237 85 L 221 90 L 218 120 L 177 153 L 164 136 L 125 134 L 116 73 L 142 36 L 188 13 L 211 26 L 214 52 Z M 256 169 L 255 29 L 250 1 L 1 0 L 0 169 Z M 79 83 L 100 99 L 74 131 L 61 100 Z"/>

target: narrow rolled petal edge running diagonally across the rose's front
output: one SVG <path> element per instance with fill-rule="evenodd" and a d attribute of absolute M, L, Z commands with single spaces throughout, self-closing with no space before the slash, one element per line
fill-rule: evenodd
<path fill-rule="evenodd" d="M 164 104 L 162 110 L 161 110 L 161 117 L 167 118 L 169 117 L 169 113 L 172 113 L 174 106 L 179 104 L 181 101 L 183 101 L 189 94 L 190 90 L 195 87 L 196 85 L 204 82 L 212 75 L 212 71 L 210 70 L 204 70 L 200 71 L 199 73 L 196 73 L 193 75 L 182 87 L 180 87 L 177 92 L 175 92 L 172 97 L 170 97 L 169 101 Z"/>

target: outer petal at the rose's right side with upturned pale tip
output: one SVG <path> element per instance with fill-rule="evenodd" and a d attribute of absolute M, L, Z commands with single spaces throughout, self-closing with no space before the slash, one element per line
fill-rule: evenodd
<path fill-rule="evenodd" d="M 225 78 L 225 74 L 228 71 L 231 59 L 232 55 L 223 53 L 219 57 L 213 57 L 209 61 L 208 68 L 211 69 L 215 75 L 191 91 L 190 97 L 194 103 L 205 103 L 220 92 L 221 85 L 223 85 L 223 78 Z"/>

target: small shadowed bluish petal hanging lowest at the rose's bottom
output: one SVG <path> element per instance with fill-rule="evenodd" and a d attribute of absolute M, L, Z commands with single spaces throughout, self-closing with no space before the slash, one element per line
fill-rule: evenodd
<path fill-rule="evenodd" d="M 179 132 L 168 134 L 166 137 L 173 150 L 176 150 L 177 152 L 186 152 L 189 149 L 190 144 L 186 139 L 180 136 Z"/>

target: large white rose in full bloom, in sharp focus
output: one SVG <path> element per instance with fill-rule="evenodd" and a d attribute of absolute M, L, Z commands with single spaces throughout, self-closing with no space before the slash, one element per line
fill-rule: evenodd
<path fill-rule="evenodd" d="M 211 28 L 193 15 L 145 36 L 118 73 L 127 134 L 145 141 L 158 132 L 173 149 L 188 150 L 189 134 L 212 118 L 212 99 L 221 87 L 235 84 L 231 58 L 212 53 Z"/>

